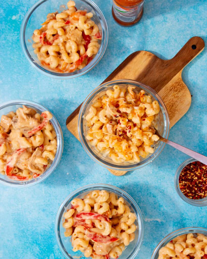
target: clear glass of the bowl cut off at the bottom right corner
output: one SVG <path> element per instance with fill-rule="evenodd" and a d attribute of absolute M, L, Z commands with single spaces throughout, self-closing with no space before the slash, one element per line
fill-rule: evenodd
<path fill-rule="evenodd" d="M 154 252 L 153 252 L 153 254 L 151 256 L 151 259 L 158 259 L 160 248 L 162 248 L 167 243 L 169 243 L 169 241 L 171 241 L 172 239 L 176 238 L 177 236 L 184 235 L 184 234 L 189 234 L 189 233 L 201 233 L 201 234 L 207 235 L 207 228 L 202 228 L 202 227 L 186 227 L 186 228 L 181 228 L 181 229 L 178 229 L 178 230 L 170 233 L 164 239 L 162 239 L 162 241 L 159 242 L 157 247 L 154 249 Z"/>

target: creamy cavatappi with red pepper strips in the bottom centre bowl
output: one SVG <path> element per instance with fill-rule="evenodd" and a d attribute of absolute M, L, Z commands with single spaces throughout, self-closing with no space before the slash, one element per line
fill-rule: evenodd
<path fill-rule="evenodd" d="M 80 250 L 85 257 L 118 258 L 135 238 L 136 215 L 122 197 L 105 190 L 73 199 L 63 217 L 73 251 Z"/>

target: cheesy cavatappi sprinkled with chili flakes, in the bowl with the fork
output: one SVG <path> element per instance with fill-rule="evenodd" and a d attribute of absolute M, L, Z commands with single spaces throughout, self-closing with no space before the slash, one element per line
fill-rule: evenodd
<path fill-rule="evenodd" d="M 114 85 L 85 114 L 86 139 L 115 163 L 139 162 L 140 156 L 154 152 L 151 145 L 159 139 L 154 129 L 159 111 L 159 103 L 144 90 Z"/>

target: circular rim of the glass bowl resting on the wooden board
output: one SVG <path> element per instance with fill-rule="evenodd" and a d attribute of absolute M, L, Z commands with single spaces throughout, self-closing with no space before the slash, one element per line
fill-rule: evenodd
<path fill-rule="evenodd" d="M 83 148 L 85 149 L 86 153 L 95 161 L 97 162 L 98 164 L 100 164 L 101 166 L 104 166 L 105 168 L 107 169 L 112 169 L 112 170 L 119 170 L 119 171 L 132 171 L 132 170 L 136 170 L 136 169 L 139 169 L 139 168 L 142 168 L 144 167 L 145 165 L 147 165 L 148 163 L 152 162 L 156 157 L 158 157 L 162 150 L 164 149 L 165 147 L 165 143 L 164 142 L 161 142 L 160 144 L 160 147 L 159 147 L 159 152 L 156 153 L 156 155 L 153 155 L 151 154 L 151 158 L 150 156 L 147 157 L 147 159 L 144 159 L 143 161 L 139 162 L 139 163 L 135 163 L 135 164 L 129 164 L 129 165 L 126 165 L 126 166 L 123 166 L 122 164 L 120 165 L 115 165 L 113 163 L 109 163 L 107 161 L 104 161 L 104 160 L 99 160 L 95 157 L 94 155 L 94 152 L 92 151 L 92 149 L 89 147 L 87 147 L 85 145 L 85 136 L 83 134 L 83 127 L 81 127 L 81 123 L 82 123 L 82 120 L 83 120 L 83 110 L 85 108 L 85 105 L 87 103 L 87 101 L 90 99 L 90 98 L 93 98 L 95 97 L 95 95 L 97 95 L 99 92 L 101 92 L 102 88 L 106 87 L 107 85 L 110 85 L 110 84 L 135 84 L 139 87 L 141 87 L 142 89 L 144 89 L 146 92 L 149 92 L 155 99 L 157 99 L 159 101 L 159 103 L 161 104 L 162 108 L 165 110 L 163 114 L 166 120 L 166 132 L 165 132 L 165 136 L 164 138 L 168 139 L 168 136 L 169 136 L 169 127 L 170 127 L 170 121 L 169 121 L 169 115 L 168 115 L 168 111 L 167 111 L 167 107 L 164 103 L 164 101 L 162 100 L 162 98 L 158 95 L 158 93 L 152 89 L 151 87 L 149 87 L 148 85 L 146 84 L 143 84 L 139 81 L 136 81 L 136 80 L 130 80 L 130 79 L 119 79 L 119 80 L 112 80 L 112 81 L 107 81 L 107 82 L 104 82 L 102 84 L 100 84 L 98 87 L 96 87 L 93 91 L 91 91 L 88 96 L 85 98 L 84 102 L 82 103 L 81 107 L 80 107 L 80 111 L 79 111 L 79 115 L 78 115 L 78 136 L 79 136 L 79 139 L 80 139 L 80 142 L 83 146 Z M 86 106 L 87 107 L 87 106 Z M 150 158 L 150 159 L 149 159 Z M 102 162 L 104 161 L 104 162 Z"/>

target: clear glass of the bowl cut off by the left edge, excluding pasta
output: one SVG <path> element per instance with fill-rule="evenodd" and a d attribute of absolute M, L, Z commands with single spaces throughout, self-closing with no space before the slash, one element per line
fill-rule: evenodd
<path fill-rule="evenodd" d="M 48 111 L 48 109 L 46 107 L 44 107 L 38 103 L 32 102 L 32 101 L 11 100 L 11 101 L 5 102 L 0 105 L 0 118 L 2 115 L 8 114 L 10 111 L 16 111 L 19 107 L 22 107 L 23 104 L 30 108 L 33 108 L 38 113 L 42 113 L 43 111 Z M 39 177 L 29 180 L 29 181 L 15 181 L 15 180 L 10 179 L 6 175 L 0 174 L 1 183 L 12 186 L 12 187 L 28 187 L 28 186 L 32 186 L 32 185 L 42 182 L 55 170 L 58 163 L 60 162 L 62 152 L 63 152 L 63 134 L 62 134 L 60 124 L 58 123 L 58 121 L 56 120 L 54 115 L 53 115 L 53 118 L 50 120 L 50 122 L 52 123 L 54 130 L 56 132 L 56 135 L 57 135 L 57 151 L 55 154 L 55 159 L 51 163 L 50 167 L 48 167 L 43 172 L 43 174 L 40 175 Z"/>

